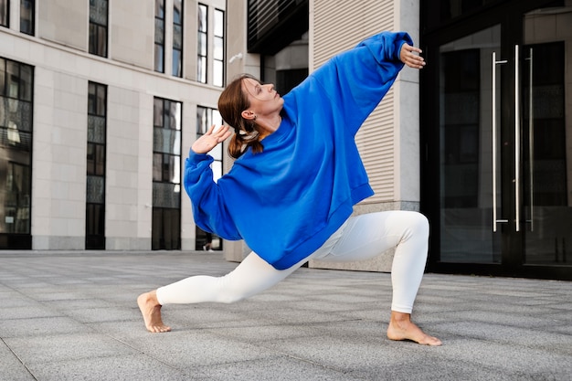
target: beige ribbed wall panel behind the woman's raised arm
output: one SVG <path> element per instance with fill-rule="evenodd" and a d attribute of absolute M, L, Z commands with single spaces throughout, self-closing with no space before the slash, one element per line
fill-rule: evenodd
<path fill-rule="evenodd" d="M 313 66 L 353 48 L 364 37 L 393 30 L 393 1 L 314 0 Z M 390 90 L 357 133 L 355 141 L 376 192 L 364 203 L 395 200 L 393 90 Z"/>

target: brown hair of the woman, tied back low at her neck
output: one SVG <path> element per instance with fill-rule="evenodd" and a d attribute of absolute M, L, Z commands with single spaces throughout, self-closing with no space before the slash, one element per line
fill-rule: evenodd
<path fill-rule="evenodd" d="M 249 97 L 242 90 L 244 79 L 255 79 L 249 74 L 243 74 L 230 82 L 218 98 L 218 111 L 230 127 L 234 127 L 235 134 L 228 144 L 228 154 L 238 159 L 250 147 L 253 153 L 261 153 L 264 147 L 260 143 L 260 131 L 254 121 L 246 120 L 242 117 L 242 111 L 250 107 Z M 260 81 L 259 81 L 260 82 Z"/>

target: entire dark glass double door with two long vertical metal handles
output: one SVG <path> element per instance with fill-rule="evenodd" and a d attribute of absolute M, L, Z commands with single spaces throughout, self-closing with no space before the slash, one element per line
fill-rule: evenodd
<path fill-rule="evenodd" d="M 433 270 L 572 280 L 565 3 L 514 2 L 429 44 L 437 69 L 425 113 L 435 123 L 424 138 L 423 184 Z"/>

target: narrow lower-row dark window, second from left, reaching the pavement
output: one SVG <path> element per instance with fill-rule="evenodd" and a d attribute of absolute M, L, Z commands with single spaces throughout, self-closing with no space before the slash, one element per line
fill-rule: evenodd
<path fill-rule="evenodd" d="M 86 249 L 105 249 L 107 87 L 90 82 L 86 185 Z"/>

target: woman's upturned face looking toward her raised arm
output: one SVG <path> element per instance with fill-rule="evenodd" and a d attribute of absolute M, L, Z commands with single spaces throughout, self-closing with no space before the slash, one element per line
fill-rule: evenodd
<path fill-rule="evenodd" d="M 262 85 L 256 79 L 243 79 L 242 89 L 249 98 L 251 111 L 257 117 L 269 117 L 273 114 L 280 114 L 284 100 L 271 83 Z"/>

